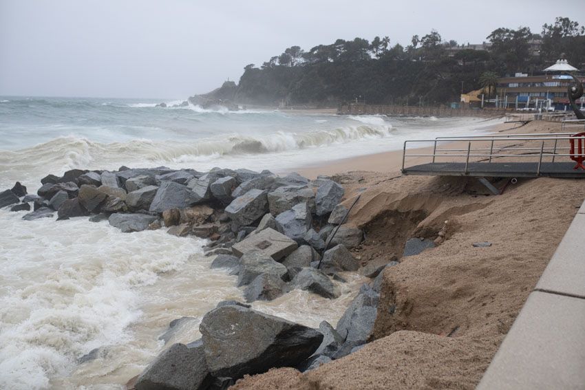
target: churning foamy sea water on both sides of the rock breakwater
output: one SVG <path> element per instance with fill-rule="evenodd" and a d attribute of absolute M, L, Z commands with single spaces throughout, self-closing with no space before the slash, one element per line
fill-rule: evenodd
<path fill-rule="evenodd" d="M 167 101 L 167 104 L 178 104 Z M 213 166 L 285 171 L 401 149 L 409 138 L 481 133 L 493 121 L 292 115 L 140 100 L 0 99 L 0 190 L 73 168 Z M 0 389 L 119 389 L 164 345 L 169 322 L 195 318 L 173 342 L 200 334 L 202 316 L 242 299 L 236 277 L 210 270 L 204 241 L 164 229 L 123 234 L 87 217 L 23 221 L 0 210 Z M 333 325 L 363 279 L 339 299 L 293 291 L 253 307 L 305 325 Z M 93 349 L 98 358 L 80 363 Z"/>

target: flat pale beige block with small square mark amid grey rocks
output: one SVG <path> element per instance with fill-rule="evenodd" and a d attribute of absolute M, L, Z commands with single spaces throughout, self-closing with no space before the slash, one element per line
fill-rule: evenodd
<path fill-rule="evenodd" d="M 242 256 L 247 252 L 259 251 L 278 261 L 292 253 L 297 247 L 298 245 L 294 240 L 276 230 L 266 228 L 235 243 L 232 246 L 232 250 L 236 256 Z"/>

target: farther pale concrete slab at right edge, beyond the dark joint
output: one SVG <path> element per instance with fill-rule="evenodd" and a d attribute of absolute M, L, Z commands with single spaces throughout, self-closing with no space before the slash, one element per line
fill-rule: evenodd
<path fill-rule="evenodd" d="M 536 290 L 585 298 L 585 214 L 575 215 Z"/>

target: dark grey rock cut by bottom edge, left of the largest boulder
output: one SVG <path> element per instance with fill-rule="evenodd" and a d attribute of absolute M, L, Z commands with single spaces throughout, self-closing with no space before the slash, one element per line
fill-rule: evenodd
<path fill-rule="evenodd" d="M 173 344 L 142 371 L 136 390 L 204 390 L 213 382 L 202 343 Z"/>

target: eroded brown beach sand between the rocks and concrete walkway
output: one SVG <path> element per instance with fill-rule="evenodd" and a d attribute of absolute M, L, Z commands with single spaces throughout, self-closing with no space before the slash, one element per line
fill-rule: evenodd
<path fill-rule="evenodd" d="M 560 124 L 494 131 L 558 132 Z M 363 264 L 400 258 L 410 237 L 437 244 L 385 270 L 371 342 L 318 369 L 273 369 L 234 389 L 476 387 L 577 213 L 585 182 L 501 181 L 504 193 L 493 196 L 473 178 L 403 176 L 400 166 L 401 152 L 389 152 L 299 170 L 334 175 L 347 204 L 365 188 L 349 220 L 365 231 L 354 253 Z M 485 241 L 491 246 L 472 245 Z"/>

